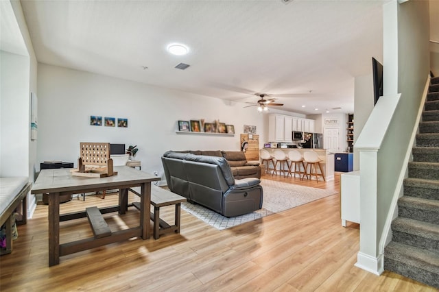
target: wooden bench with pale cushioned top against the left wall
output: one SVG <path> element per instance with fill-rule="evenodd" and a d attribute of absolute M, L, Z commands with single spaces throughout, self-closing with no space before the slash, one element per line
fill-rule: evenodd
<path fill-rule="evenodd" d="M 27 223 L 27 193 L 32 184 L 28 178 L 0 178 L 0 226 L 6 226 L 6 249 L 0 254 L 12 252 L 12 218 L 15 208 L 20 204 L 23 206 L 23 219 L 16 221 L 18 225 Z"/>

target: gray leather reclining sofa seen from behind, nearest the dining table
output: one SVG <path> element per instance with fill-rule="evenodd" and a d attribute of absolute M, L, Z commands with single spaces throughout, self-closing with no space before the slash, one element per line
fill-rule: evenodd
<path fill-rule="evenodd" d="M 167 151 L 162 156 L 169 190 L 226 217 L 262 208 L 257 178 L 235 180 L 226 158 Z"/>

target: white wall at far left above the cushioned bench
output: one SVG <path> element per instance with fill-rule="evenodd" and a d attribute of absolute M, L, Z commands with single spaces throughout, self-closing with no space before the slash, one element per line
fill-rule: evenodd
<path fill-rule="evenodd" d="M 36 141 L 29 137 L 30 93 L 37 93 L 37 62 L 19 1 L 1 1 L 5 50 L 1 51 L 0 176 L 28 176 L 34 181 Z M 5 27 L 3 27 L 5 25 Z M 7 35 L 8 39 L 4 36 Z M 27 195 L 27 214 L 32 217 L 35 196 Z"/>

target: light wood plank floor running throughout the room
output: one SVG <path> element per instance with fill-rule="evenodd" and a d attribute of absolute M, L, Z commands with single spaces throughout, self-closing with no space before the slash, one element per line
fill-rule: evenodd
<path fill-rule="evenodd" d="M 339 191 L 333 182 L 265 176 L 283 182 Z M 88 196 L 61 205 L 61 212 L 110 206 Z M 165 208 L 164 219 L 173 208 Z M 112 230 L 137 223 L 126 215 L 106 215 Z M 62 223 L 60 241 L 93 236 L 87 219 Z M 47 206 L 39 204 L 12 254 L 0 258 L 1 291 L 436 291 L 385 271 L 375 276 L 354 266 L 359 226 L 341 226 L 340 194 L 218 231 L 182 210 L 180 234 L 132 239 L 63 256 L 48 267 Z"/>

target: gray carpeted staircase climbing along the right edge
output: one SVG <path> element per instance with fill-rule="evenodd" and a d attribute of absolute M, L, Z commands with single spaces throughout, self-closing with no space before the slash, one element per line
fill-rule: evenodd
<path fill-rule="evenodd" d="M 439 77 L 431 78 L 384 269 L 439 289 Z"/>

